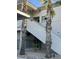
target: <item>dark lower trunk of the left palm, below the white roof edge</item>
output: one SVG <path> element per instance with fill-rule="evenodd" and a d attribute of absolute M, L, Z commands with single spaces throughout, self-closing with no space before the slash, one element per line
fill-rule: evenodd
<path fill-rule="evenodd" d="M 20 50 L 20 55 L 25 55 L 25 47 L 26 47 L 26 26 L 25 19 L 22 22 L 22 45 Z"/>

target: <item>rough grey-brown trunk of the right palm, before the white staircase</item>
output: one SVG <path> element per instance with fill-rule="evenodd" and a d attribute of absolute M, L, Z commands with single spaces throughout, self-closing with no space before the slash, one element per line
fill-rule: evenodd
<path fill-rule="evenodd" d="M 52 44 L 52 39 L 51 39 L 51 1 L 48 1 L 48 9 L 47 9 L 47 15 L 48 18 L 46 20 L 46 57 L 47 58 L 51 58 L 52 54 L 51 54 L 51 44 Z"/>

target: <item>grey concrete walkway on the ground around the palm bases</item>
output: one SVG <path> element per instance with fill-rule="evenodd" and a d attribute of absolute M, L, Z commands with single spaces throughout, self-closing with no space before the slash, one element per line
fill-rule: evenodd
<path fill-rule="evenodd" d="M 18 55 L 17 59 L 46 59 L 45 54 L 41 52 L 26 52 L 26 55 Z M 55 58 L 51 59 L 61 59 L 61 56 L 56 55 Z"/>

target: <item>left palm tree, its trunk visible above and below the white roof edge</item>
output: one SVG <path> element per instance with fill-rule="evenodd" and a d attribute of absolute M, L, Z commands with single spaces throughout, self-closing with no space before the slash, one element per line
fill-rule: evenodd
<path fill-rule="evenodd" d="M 26 0 L 22 0 L 22 9 L 23 12 L 26 12 Z M 20 49 L 20 55 L 25 55 L 26 47 L 26 19 L 22 20 L 22 44 Z"/>

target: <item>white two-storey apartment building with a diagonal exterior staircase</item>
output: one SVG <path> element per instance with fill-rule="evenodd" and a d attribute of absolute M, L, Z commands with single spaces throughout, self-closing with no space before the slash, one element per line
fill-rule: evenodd
<path fill-rule="evenodd" d="M 20 5 L 19 5 L 20 4 Z M 21 6 L 21 2 L 17 3 Z M 38 8 L 27 2 L 27 11 L 22 11 L 22 7 L 17 9 L 17 50 L 46 52 L 46 19 L 47 10 L 38 11 Z M 55 16 L 52 18 L 52 46 L 53 55 L 61 56 L 61 6 L 54 7 Z M 33 12 L 33 14 L 31 14 Z M 36 12 L 36 13 L 35 13 Z M 34 15 L 35 14 L 35 15 Z M 31 19 L 30 17 L 34 15 Z M 25 20 L 25 21 L 23 21 Z M 23 27 L 23 22 L 25 23 Z M 25 33 L 23 33 L 25 30 Z M 23 35 L 25 39 L 23 39 Z M 23 53 L 21 53 L 23 54 Z"/>

